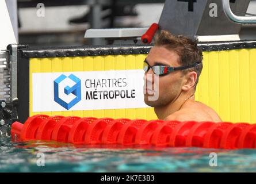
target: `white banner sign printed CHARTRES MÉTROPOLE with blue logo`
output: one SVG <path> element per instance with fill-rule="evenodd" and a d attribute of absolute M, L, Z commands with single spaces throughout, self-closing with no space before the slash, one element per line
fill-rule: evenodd
<path fill-rule="evenodd" d="M 32 74 L 33 112 L 148 108 L 143 70 Z"/>

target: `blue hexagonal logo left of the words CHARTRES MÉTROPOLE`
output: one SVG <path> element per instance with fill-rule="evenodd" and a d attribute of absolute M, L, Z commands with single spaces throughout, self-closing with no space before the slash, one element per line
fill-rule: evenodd
<path fill-rule="evenodd" d="M 60 87 L 59 87 L 60 83 L 67 77 L 70 78 L 72 81 L 74 81 L 75 85 L 71 86 L 71 87 L 66 86 L 66 87 L 64 87 L 64 89 L 60 89 Z M 72 99 L 69 103 L 67 103 L 59 97 L 59 90 L 64 90 L 64 93 L 66 95 L 72 93 L 75 95 L 75 98 Z M 70 74 L 69 76 L 62 74 L 58 78 L 56 78 L 54 80 L 54 101 L 57 102 L 59 105 L 63 106 L 63 108 L 65 108 L 67 110 L 72 108 L 72 106 L 74 106 L 79 101 L 81 101 L 81 80 L 73 74 Z"/>

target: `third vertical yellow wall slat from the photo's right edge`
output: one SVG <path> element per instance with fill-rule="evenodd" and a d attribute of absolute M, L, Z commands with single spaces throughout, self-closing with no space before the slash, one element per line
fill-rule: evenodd
<path fill-rule="evenodd" d="M 230 120 L 240 120 L 239 50 L 230 51 Z M 227 84 L 228 85 L 228 84 Z"/>

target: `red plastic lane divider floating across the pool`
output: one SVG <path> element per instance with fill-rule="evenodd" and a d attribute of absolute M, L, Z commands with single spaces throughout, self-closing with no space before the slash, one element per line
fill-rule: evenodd
<path fill-rule="evenodd" d="M 129 120 L 77 116 L 29 117 L 14 122 L 12 137 L 73 144 L 123 144 L 170 147 L 256 148 L 256 124 Z"/>

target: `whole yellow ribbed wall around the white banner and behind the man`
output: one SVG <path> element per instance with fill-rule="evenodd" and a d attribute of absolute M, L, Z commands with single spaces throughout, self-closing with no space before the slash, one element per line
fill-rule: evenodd
<path fill-rule="evenodd" d="M 211 106 L 223 121 L 256 122 L 256 49 L 203 52 L 203 69 L 196 100 Z M 143 67 L 144 54 L 82 57 L 30 58 L 30 104 L 32 112 L 32 73 L 135 70 Z M 82 117 L 157 119 L 153 108 L 43 112 Z"/>

